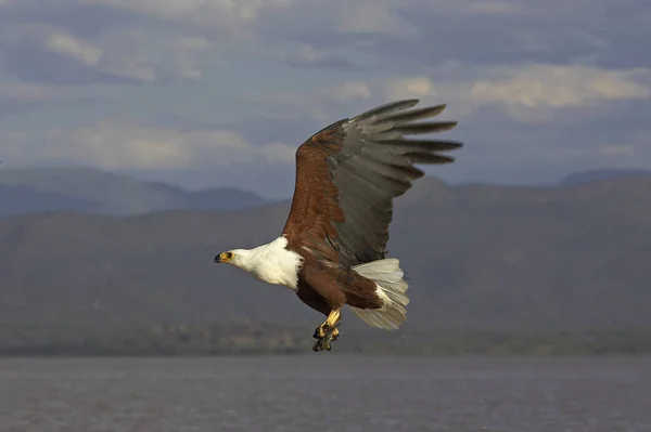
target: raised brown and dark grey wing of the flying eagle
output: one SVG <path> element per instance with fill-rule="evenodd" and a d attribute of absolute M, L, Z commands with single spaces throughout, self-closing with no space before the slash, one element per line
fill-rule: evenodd
<path fill-rule="evenodd" d="M 296 185 L 283 234 L 345 267 L 385 256 L 393 198 L 423 172 L 414 163 L 449 163 L 441 152 L 456 141 L 407 140 L 442 132 L 456 121 L 413 122 L 441 114 L 445 105 L 409 109 L 419 100 L 397 101 L 315 133 L 296 150 Z"/>

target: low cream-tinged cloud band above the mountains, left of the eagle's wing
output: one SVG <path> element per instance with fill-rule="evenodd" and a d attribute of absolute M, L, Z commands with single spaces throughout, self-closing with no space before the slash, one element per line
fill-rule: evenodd
<path fill-rule="evenodd" d="M 254 145 L 227 129 L 182 130 L 118 120 L 37 133 L 14 130 L 5 133 L 2 143 L 2 153 L 13 162 L 58 161 L 103 169 L 282 163 L 293 160 L 295 152 L 278 142 Z"/>

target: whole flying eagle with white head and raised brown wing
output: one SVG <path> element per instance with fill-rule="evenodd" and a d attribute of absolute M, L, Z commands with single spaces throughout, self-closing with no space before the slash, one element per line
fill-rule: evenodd
<path fill-rule="evenodd" d="M 407 139 L 443 132 L 457 121 L 418 121 L 445 104 L 413 108 L 419 99 L 391 102 L 328 126 L 296 150 L 292 206 L 282 233 L 253 249 L 217 254 L 259 280 L 290 288 L 326 316 L 312 350 L 340 338 L 344 305 L 366 324 L 395 330 L 407 316 L 408 283 L 387 258 L 393 200 L 424 175 L 417 163 L 451 163 L 443 154 L 458 141 Z M 421 136 L 422 138 L 422 136 Z"/>

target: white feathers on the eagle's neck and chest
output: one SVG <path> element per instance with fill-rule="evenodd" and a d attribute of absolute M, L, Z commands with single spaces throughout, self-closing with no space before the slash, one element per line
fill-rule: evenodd
<path fill-rule="evenodd" d="M 254 249 L 234 249 L 230 264 L 253 274 L 264 283 L 284 285 L 295 290 L 303 259 L 298 253 L 285 249 L 286 246 L 286 238 L 278 237 Z"/>

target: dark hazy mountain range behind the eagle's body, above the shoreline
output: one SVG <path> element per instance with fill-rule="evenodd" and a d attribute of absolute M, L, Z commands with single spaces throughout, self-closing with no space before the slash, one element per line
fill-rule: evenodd
<path fill-rule="evenodd" d="M 405 329 L 650 328 L 650 198 L 651 176 L 571 187 L 422 179 L 398 200 L 390 241 L 411 280 Z M 213 263 L 278 235 L 288 209 L 3 218 L 0 328 L 248 319 L 309 330 L 321 316 L 286 288 Z M 350 313 L 345 326 L 362 328 Z"/>

